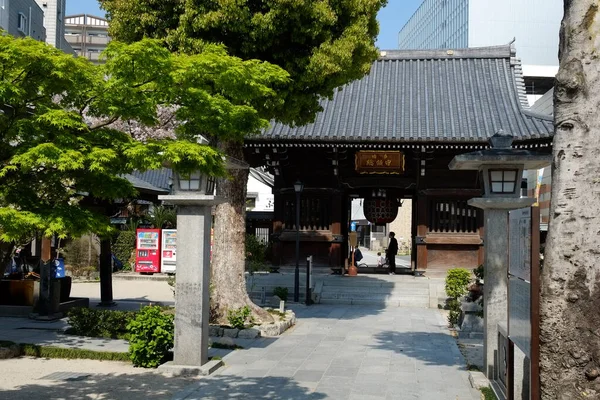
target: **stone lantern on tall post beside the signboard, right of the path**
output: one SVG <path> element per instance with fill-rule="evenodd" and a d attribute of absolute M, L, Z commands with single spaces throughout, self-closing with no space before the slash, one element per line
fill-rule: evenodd
<path fill-rule="evenodd" d="M 494 355 L 498 352 L 498 323 L 508 318 L 508 212 L 531 206 L 535 199 L 521 197 L 523 171 L 550 164 L 550 154 L 512 149 L 513 137 L 503 131 L 489 140 L 490 148 L 461 154 L 450 162 L 452 170 L 478 170 L 484 195 L 469 200 L 469 205 L 484 210 L 485 285 L 484 285 L 484 373 L 497 378 Z"/>

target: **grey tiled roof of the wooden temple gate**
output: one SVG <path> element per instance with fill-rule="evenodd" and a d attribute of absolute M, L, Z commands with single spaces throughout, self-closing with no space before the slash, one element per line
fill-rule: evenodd
<path fill-rule="evenodd" d="M 553 134 L 552 119 L 526 106 L 510 45 L 382 52 L 369 75 L 321 105 L 314 123 L 274 123 L 253 140 L 481 143 L 499 129 L 516 141 Z"/>

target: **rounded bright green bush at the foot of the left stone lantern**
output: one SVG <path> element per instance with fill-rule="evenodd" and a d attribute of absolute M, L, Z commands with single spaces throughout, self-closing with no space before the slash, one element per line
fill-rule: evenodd
<path fill-rule="evenodd" d="M 148 306 L 127 325 L 129 354 L 136 367 L 156 368 L 173 347 L 173 315 L 164 314 L 158 306 Z"/>

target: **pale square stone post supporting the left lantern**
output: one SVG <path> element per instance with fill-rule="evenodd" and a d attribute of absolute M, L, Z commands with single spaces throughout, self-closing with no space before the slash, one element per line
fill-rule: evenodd
<path fill-rule="evenodd" d="M 211 206 L 180 205 L 177 211 L 177 283 L 173 363 L 208 361 Z"/>

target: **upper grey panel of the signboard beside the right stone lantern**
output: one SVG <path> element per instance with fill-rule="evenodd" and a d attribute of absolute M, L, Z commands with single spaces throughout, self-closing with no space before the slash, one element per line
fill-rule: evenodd
<path fill-rule="evenodd" d="M 508 273 L 531 282 L 531 208 L 508 213 Z"/>

